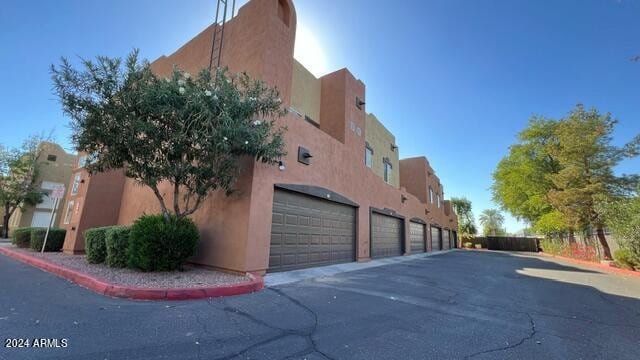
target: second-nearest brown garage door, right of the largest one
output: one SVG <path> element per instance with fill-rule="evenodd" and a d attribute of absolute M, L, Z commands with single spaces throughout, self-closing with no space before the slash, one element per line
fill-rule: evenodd
<path fill-rule="evenodd" d="M 402 220 L 371 214 L 371 257 L 381 258 L 402 255 Z"/>

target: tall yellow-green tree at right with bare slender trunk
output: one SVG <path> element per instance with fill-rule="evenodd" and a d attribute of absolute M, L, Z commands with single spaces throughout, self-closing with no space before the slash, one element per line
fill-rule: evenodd
<path fill-rule="evenodd" d="M 596 203 L 598 199 L 628 195 L 638 184 L 638 175 L 614 174 L 620 161 L 640 151 L 640 135 L 622 147 L 611 143 L 616 124 L 611 114 L 578 105 L 558 122 L 558 142 L 550 148 L 550 155 L 560 164 L 560 170 L 549 176 L 554 184 L 548 193 L 550 204 L 569 227 L 594 226 L 607 259 L 611 259 L 611 251 Z"/>

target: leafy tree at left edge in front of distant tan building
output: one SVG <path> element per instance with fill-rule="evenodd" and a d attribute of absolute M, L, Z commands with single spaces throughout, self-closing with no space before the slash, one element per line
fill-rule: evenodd
<path fill-rule="evenodd" d="M 3 237 L 9 237 L 9 219 L 25 205 L 42 202 L 42 191 L 38 190 L 38 160 L 42 154 L 40 143 L 43 137 L 32 136 L 24 141 L 20 149 L 9 149 L 0 145 L 0 205 L 4 208 L 2 218 Z"/>

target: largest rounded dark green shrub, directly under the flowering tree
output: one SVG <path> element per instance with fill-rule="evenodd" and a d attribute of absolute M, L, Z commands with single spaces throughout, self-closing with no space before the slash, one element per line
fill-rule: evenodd
<path fill-rule="evenodd" d="M 128 264 L 142 271 L 179 269 L 195 253 L 198 240 L 198 228 L 188 218 L 144 215 L 129 233 Z"/>

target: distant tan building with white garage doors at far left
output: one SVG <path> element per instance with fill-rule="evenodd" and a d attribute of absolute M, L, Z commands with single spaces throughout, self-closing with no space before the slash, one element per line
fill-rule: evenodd
<path fill-rule="evenodd" d="M 43 192 L 50 193 L 57 185 L 67 186 L 77 156 L 67 153 L 60 145 L 50 142 L 41 143 L 39 150 L 41 155 L 38 160 L 38 179 L 36 180 L 38 188 Z M 27 226 L 48 226 L 54 203 L 52 198 L 45 195 L 40 204 L 24 206 L 22 210 L 16 210 L 9 219 L 9 230 Z M 53 226 L 60 224 L 62 203 L 61 200 L 58 204 Z"/>

